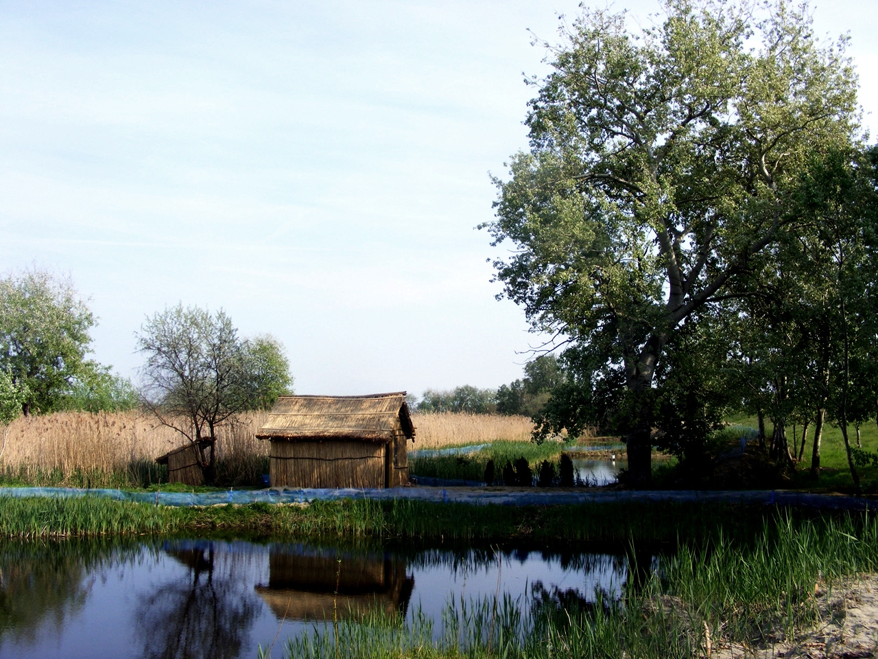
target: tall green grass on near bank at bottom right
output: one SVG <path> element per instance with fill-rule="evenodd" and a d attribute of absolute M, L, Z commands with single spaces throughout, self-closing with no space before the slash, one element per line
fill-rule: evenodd
<path fill-rule="evenodd" d="M 878 570 L 874 518 L 795 520 L 779 516 L 750 543 L 722 534 L 684 545 L 658 571 L 630 578 L 621 600 L 587 602 L 565 593 L 528 599 L 450 602 L 441 621 L 415 610 L 408 622 L 316 625 L 284 655 L 330 659 L 401 657 L 710 656 L 808 641 L 807 630 L 836 616 L 832 590 Z M 637 573 L 629 566 L 629 574 Z M 867 656 L 831 652 L 821 655 Z M 845 648 L 841 648 L 844 650 Z M 264 656 L 264 653 L 263 653 Z M 809 655 L 810 656 L 810 655 Z"/>

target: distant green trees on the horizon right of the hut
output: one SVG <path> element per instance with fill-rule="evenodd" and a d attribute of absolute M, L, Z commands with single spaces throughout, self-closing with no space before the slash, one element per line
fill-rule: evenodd
<path fill-rule="evenodd" d="M 554 355 L 542 355 L 524 366 L 524 377 L 497 389 L 471 385 L 453 389 L 427 389 L 421 400 L 412 400 L 419 412 L 464 412 L 468 414 L 521 414 L 533 416 L 549 400 L 551 391 L 564 384 L 566 376 Z"/>

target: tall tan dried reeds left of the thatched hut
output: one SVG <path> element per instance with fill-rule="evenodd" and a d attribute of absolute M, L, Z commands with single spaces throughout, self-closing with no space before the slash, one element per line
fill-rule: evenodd
<path fill-rule="evenodd" d="M 219 429 L 217 480 L 256 484 L 268 471 L 268 442 L 255 438 L 266 415 Z M 139 412 L 58 412 L 18 418 L 0 458 L 4 480 L 45 485 L 140 486 L 156 482 L 155 458 L 188 440 Z"/>

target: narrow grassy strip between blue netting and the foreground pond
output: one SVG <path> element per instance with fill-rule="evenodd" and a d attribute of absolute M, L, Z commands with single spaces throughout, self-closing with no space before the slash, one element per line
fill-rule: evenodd
<path fill-rule="evenodd" d="M 795 511 L 796 520 L 815 513 Z M 176 508 L 97 497 L 0 498 L 0 537 L 222 533 L 462 543 L 676 543 L 759 532 L 774 509 L 716 504 L 473 506 L 420 501 Z"/>

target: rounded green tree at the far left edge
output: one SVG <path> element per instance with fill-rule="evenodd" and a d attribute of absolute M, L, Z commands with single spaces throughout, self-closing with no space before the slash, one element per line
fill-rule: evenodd
<path fill-rule="evenodd" d="M 0 370 L 26 387 L 25 414 L 54 409 L 86 372 L 94 324 L 68 279 L 41 270 L 0 279 Z"/>

